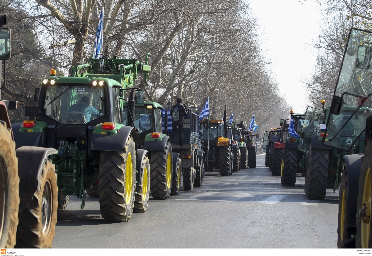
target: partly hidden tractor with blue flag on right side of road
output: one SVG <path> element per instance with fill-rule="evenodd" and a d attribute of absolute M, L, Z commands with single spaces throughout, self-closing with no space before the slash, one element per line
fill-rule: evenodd
<path fill-rule="evenodd" d="M 283 186 L 294 186 L 296 184 L 296 174 L 304 173 L 304 168 L 301 165 L 304 153 L 297 148 L 300 140 L 298 134 L 301 134 L 305 114 L 294 114 L 293 111 L 290 113 L 294 124 L 294 132 L 288 133 L 282 154 L 280 182 Z"/>

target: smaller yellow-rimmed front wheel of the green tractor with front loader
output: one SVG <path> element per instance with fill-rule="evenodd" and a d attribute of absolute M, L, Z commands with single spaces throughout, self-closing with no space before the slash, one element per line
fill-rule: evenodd
<path fill-rule="evenodd" d="M 150 159 L 147 155 L 142 162 L 142 167 L 138 169 L 133 211 L 145 212 L 150 197 Z"/>

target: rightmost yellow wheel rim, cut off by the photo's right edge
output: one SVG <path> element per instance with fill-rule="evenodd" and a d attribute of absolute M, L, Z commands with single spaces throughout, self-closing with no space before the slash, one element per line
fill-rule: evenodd
<path fill-rule="evenodd" d="M 363 184 L 362 194 L 362 217 L 360 220 L 360 241 L 362 248 L 368 248 L 368 240 L 371 232 L 371 167 L 368 167 Z M 365 214 L 364 214 L 365 213 Z"/>

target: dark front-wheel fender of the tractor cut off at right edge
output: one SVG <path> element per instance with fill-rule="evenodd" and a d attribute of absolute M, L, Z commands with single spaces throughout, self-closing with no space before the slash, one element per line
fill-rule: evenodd
<path fill-rule="evenodd" d="M 359 188 L 360 168 L 362 167 L 363 154 L 352 154 L 344 157 L 347 172 L 347 208 L 345 209 L 345 219 L 347 225 L 356 227 L 355 216 L 357 214 L 357 198 Z"/>

